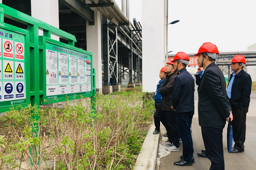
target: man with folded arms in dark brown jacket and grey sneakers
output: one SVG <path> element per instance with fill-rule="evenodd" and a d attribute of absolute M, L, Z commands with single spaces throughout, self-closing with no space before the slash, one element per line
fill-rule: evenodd
<path fill-rule="evenodd" d="M 172 107 L 172 88 L 174 79 L 177 76 L 173 69 L 173 62 L 167 63 L 166 78 L 162 86 L 159 88 L 159 93 L 162 95 L 162 112 L 165 120 L 165 128 L 167 131 L 168 141 L 162 142 L 162 145 L 168 146 L 167 151 L 179 151 L 179 135 L 176 122 L 175 111 Z"/>

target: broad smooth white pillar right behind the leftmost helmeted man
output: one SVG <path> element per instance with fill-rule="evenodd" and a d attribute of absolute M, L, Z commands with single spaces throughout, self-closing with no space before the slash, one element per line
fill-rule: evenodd
<path fill-rule="evenodd" d="M 154 92 L 165 66 L 165 0 L 142 0 L 143 91 Z"/>

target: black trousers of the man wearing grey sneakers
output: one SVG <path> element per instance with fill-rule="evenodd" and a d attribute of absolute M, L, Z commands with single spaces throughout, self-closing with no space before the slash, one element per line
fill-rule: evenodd
<path fill-rule="evenodd" d="M 170 143 L 179 148 L 178 126 L 176 121 L 176 112 L 171 110 L 162 110 L 165 121 L 165 129 L 167 131 L 168 140 Z"/>

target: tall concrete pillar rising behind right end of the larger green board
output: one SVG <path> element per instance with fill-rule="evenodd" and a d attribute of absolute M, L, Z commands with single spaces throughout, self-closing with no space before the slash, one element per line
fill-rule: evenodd
<path fill-rule="evenodd" d="M 96 72 L 96 94 L 102 94 L 102 59 L 101 59 L 101 14 L 97 8 L 94 10 L 94 25 L 86 21 L 87 51 L 92 52 L 93 68 Z"/>

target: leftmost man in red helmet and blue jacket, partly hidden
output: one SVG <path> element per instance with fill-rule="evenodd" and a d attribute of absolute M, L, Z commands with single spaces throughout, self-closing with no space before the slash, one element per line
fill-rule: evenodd
<path fill-rule="evenodd" d="M 162 83 L 165 80 L 165 70 L 166 70 L 166 66 L 164 66 L 162 69 L 160 69 L 159 78 L 161 80 L 156 85 L 156 92 L 155 92 L 155 98 L 154 98 L 155 108 L 156 108 L 156 111 L 154 113 L 154 123 L 155 123 L 156 129 L 153 132 L 154 135 L 160 133 L 160 121 L 165 126 L 164 118 L 162 116 L 162 105 L 161 105 L 162 95 L 159 94 L 159 92 L 158 92 L 158 89 L 161 87 Z"/>

